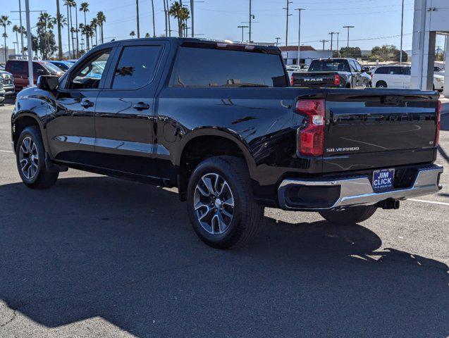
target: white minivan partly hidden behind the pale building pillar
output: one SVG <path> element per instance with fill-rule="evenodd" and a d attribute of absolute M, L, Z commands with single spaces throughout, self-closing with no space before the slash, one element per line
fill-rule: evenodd
<path fill-rule="evenodd" d="M 377 88 L 410 88 L 412 67 L 410 65 L 380 65 L 374 70 L 373 84 Z M 433 75 L 433 90 L 443 92 L 444 77 Z"/>

